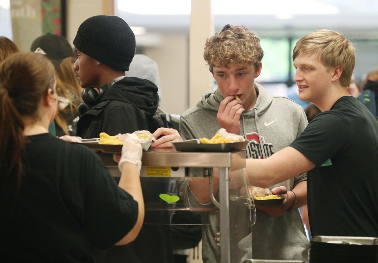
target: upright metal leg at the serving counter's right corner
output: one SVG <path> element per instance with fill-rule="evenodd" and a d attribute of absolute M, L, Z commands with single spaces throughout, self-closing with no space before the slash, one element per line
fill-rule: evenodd
<path fill-rule="evenodd" d="M 230 263 L 228 168 L 219 168 L 220 262 Z"/>

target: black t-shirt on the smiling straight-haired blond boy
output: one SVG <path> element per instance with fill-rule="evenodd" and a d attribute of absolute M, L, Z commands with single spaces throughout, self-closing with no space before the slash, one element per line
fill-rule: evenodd
<path fill-rule="evenodd" d="M 307 172 L 311 234 L 378 237 L 378 122 L 356 98 L 341 97 L 291 147 Z"/>

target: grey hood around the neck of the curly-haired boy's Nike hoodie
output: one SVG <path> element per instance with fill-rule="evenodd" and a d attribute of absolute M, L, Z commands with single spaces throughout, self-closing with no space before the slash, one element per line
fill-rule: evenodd
<path fill-rule="evenodd" d="M 261 116 L 270 106 L 273 101 L 273 95 L 268 93 L 260 84 L 254 83 L 254 88 L 258 94 L 256 104 L 253 109 L 243 111 L 243 118 L 255 118 L 255 111 L 257 111 L 257 116 Z M 218 112 L 220 103 L 225 99 L 220 90 L 217 88 L 213 93 L 204 94 L 197 106 L 207 110 L 213 110 Z"/>

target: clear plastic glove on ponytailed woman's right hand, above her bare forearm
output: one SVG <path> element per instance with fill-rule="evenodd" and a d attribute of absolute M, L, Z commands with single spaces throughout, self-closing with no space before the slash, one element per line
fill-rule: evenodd
<path fill-rule="evenodd" d="M 138 166 L 138 172 L 140 173 L 142 167 L 142 145 L 132 139 L 130 136 L 125 136 L 122 146 L 121 159 L 118 163 L 118 169 L 123 170 L 123 164 L 130 162 Z"/>

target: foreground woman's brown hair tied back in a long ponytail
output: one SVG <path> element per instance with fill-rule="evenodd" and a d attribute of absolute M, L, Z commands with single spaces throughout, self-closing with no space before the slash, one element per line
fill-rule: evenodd
<path fill-rule="evenodd" d="M 0 191 L 17 190 L 25 149 L 23 116 L 39 118 L 37 109 L 49 88 L 54 90 L 54 67 L 41 54 L 18 52 L 0 64 Z"/>

